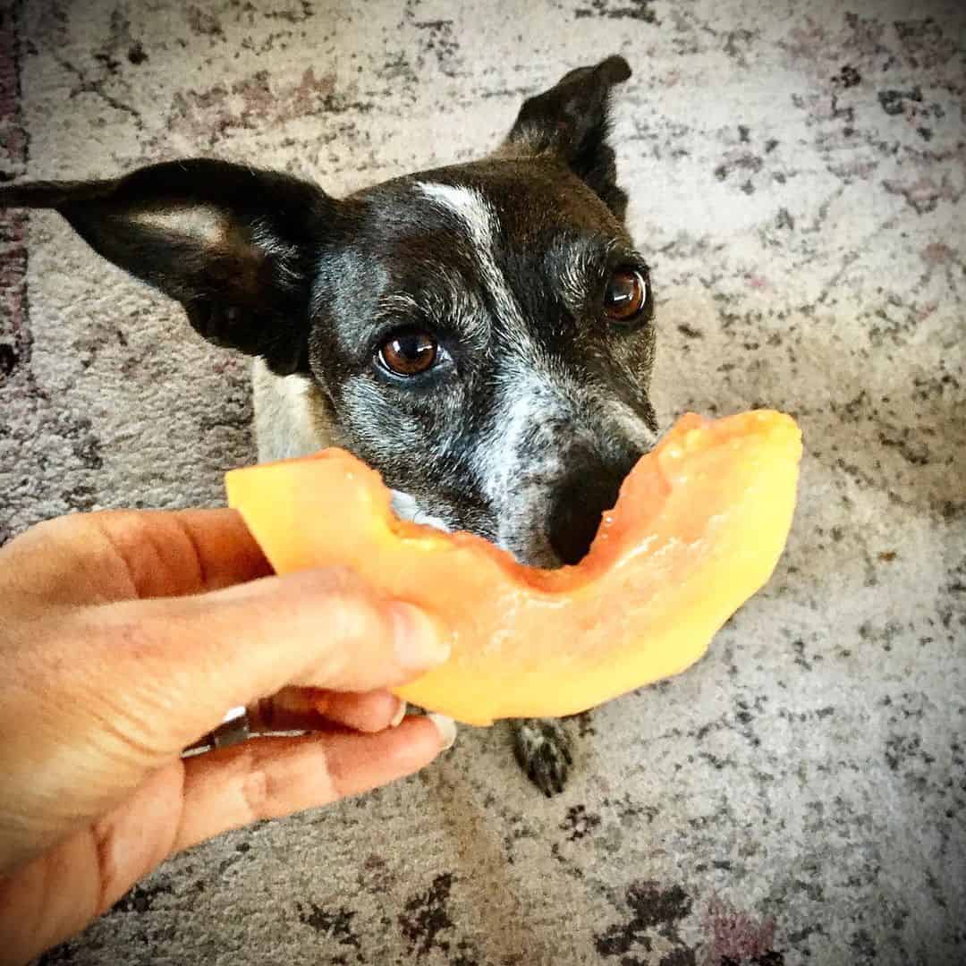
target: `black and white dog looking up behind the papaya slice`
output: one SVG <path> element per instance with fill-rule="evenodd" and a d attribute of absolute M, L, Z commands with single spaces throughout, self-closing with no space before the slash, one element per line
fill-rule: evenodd
<path fill-rule="evenodd" d="M 56 210 L 206 339 L 253 356 L 261 461 L 339 445 L 401 516 L 573 564 L 657 439 L 650 271 L 609 141 L 630 75 L 616 55 L 570 71 L 490 156 L 343 199 L 191 159 L 0 186 L 0 207 Z M 511 724 L 526 774 L 560 791 L 565 726 Z"/>

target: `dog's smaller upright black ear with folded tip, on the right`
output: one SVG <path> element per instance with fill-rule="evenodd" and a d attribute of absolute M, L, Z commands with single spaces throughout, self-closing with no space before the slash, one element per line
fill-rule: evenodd
<path fill-rule="evenodd" d="M 570 71 L 549 91 L 524 101 L 498 154 L 559 156 L 623 220 L 627 195 L 616 184 L 608 134 L 611 88 L 630 76 L 631 68 L 618 55 Z"/>

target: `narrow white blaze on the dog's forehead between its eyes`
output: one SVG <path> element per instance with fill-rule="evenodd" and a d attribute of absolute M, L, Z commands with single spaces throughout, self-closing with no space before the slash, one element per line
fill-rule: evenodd
<path fill-rule="evenodd" d="M 416 186 L 434 204 L 455 214 L 464 224 L 472 244 L 472 255 L 493 298 L 497 314 L 507 330 L 520 340 L 526 339 L 526 324 L 517 297 L 497 265 L 494 241 L 499 220 L 494 207 L 476 190 L 465 185 L 439 185 L 417 182 Z"/>

